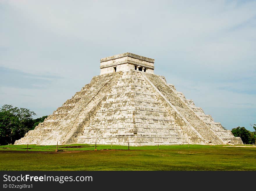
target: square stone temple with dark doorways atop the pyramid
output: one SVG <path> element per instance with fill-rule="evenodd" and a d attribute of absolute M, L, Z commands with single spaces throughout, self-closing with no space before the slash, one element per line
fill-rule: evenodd
<path fill-rule="evenodd" d="M 154 73 L 154 59 L 126 52 L 100 59 L 100 75 L 131 69 Z"/>

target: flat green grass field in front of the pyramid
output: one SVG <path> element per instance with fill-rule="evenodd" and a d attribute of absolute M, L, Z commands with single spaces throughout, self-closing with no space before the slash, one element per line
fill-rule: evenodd
<path fill-rule="evenodd" d="M 0 170 L 256 170 L 256 147 L 0 146 Z"/>

